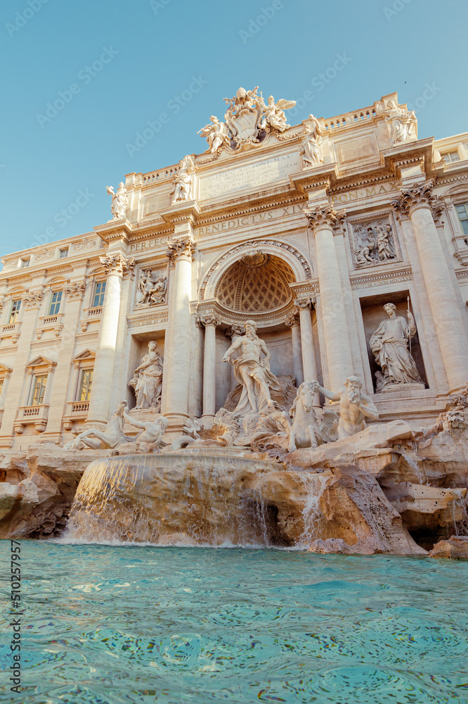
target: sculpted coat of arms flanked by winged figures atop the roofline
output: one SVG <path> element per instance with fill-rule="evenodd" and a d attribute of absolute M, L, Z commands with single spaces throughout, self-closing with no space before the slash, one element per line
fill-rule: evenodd
<path fill-rule="evenodd" d="M 294 108 L 294 100 L 278 100 L 274 97 L 264 98 L 256 86 L 253 90 L 239 88 L 233 98 L 225 98 L 228 109 L 224 115 L 226 122 L 220 122 L 212 115 L 211 122 L 198 132 L 206 137 L 209 149 L 215 153 L 224 146 L 233 151 L 242 151 L 258 146 L 268 134 L 284 132 L 287 124 L 285 110 Z"/>

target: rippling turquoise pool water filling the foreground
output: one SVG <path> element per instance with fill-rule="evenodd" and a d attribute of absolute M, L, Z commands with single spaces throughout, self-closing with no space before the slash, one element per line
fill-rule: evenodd
<path fill-rule="evenodd" d="M 466 562 L 51 541 L 21 554 L 24 691 L 1 702 L 468 702 Z"/>

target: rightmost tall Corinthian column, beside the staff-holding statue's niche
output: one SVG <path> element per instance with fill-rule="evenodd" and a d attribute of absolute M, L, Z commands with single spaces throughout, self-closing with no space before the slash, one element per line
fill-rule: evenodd
<path fill-rule="evenodd" d="M 446 368 L 449 392 L 452 393 L 467 382 L 468 339 L 434 222 L 434 218 L 440 218 L 442 206 L 438 198 L 432 195 L 431 180 L 402 188 L 401 196 L 392 201 L 392 204 L 400 216 L 409 216 L 415 232 L 429 306 Z"/>

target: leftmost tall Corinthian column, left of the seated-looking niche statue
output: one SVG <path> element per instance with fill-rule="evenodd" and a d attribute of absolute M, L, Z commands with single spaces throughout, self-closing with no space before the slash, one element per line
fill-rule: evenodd
<path fill-rule="evenodd" d="M 122 279 L 135 266 L 135 260 L 127 259 L 122 253 L 103 256 L 99 260 L 104 265 L 107 280 L 93 370 L 93 385 L 89 398 L 89 412 L 86 419 L 86 425 L 93 427 L 102 427 L 109 420 L 110 393 L 112 385 L 115 384 L 114 363 Z"/>

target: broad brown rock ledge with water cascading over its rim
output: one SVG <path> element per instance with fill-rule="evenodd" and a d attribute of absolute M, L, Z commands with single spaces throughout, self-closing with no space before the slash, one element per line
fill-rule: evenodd
<path fill-rule="evenodd" d="M 323 479 L 285 469 L 228 448 L 95 460 L 65 539 L 307 547 Z"/>

